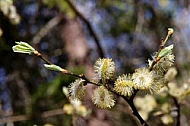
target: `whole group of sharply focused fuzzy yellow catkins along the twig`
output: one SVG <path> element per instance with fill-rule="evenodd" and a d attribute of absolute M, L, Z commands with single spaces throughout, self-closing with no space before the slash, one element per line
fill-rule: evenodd
<path fill-rule="evenodd" d="M 98 59 L 94 65 L 97 85 L 93 91 L 92 101 L 99 108 L 111 108 L 115 105 L 113 92 L 130 98 L 135 90 L 154 94 L 165 84 L 165 73 L 174 63 L 173 45 L 163 48 L 148 60 L 147 67 L 138 68 L 133 74 L 123 74 L 116 78 L 114 87 L 109 88 L 114 78 L 115 63 L 110 58 Z M 70 98 L 81 99 L 85 94 L 85 80 L 77 79 L 69 86 Z"/>

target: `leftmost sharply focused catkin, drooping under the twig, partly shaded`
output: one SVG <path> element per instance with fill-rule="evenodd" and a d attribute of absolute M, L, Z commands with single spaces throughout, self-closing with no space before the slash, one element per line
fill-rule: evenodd
<path fill-rule="evenodd" d="M 69 85 L 69 98 L 71 100 L 80 100 L 85 95 L 86 87 L 84 86 L 85 80 L 77 79 Z"/>

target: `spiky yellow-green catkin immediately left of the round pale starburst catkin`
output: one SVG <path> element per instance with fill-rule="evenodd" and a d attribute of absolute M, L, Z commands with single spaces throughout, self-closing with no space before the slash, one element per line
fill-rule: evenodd
<path fill-rule="evenodd" d="M 120 95 L 130 97 L 136 88 L 130 75 L 122 75 L 115 81 L 113 90 Z"/>

